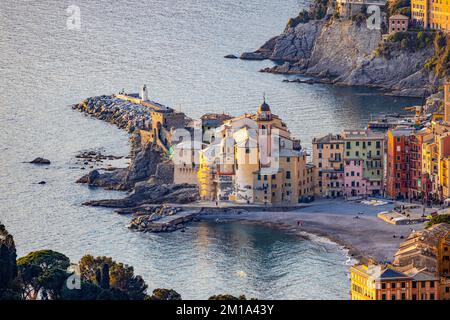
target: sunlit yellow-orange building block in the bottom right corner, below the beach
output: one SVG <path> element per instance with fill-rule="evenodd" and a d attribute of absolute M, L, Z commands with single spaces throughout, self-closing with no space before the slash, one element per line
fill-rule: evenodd
<path fill-rule="evenodd" d="M 352 300 L 446 300 L 450 298 L 450 225 L 413 232 L 392 265 L 374 262 L 350 269 Z"/>

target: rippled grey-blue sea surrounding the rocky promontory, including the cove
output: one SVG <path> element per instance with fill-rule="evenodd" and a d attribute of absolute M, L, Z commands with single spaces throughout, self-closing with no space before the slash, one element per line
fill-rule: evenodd
<path fill-rule="evenodd" d="M 110 255 L 133 265 L 150 288 L 171 287 L 184 298 L 348 298 L 347 258 L 335 245 L 235 223 L 144 235 L 126 229 L 128 217 L 82 206 L 122 194 L 75 184 L 86 170 L 74 156 L 102 147 L 126 155 L 129 146 L 124 132 L 67 106 L 146 83 L 152 99 L 192 117 L 238 115 L 254 111 L 265 92 L 308 146 L 315 135 L 363 126 L 372 113 L 416 100 L 283 83 L 258 72 L 271 62 L 223 59 L 281 32 L 307 1 L 77 1 L 80 31 L 66 28 L 69 4 L 0 2 L 0 220 L 19 255 L 42 248 L 74 261 Z M 37 156 L 52 165 L 23 163 Z"/>

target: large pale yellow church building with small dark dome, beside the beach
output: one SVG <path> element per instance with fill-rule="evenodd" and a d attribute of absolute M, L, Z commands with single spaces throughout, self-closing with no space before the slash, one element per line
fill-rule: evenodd
<path fill-rule="evenodd" d="M 313 167 L 306 165 L 306 152 L 265 101 L 256 114 L 226 120 L 214 135 L 200 151 L 201 199 L 298 203 L 311 195 Z"/>

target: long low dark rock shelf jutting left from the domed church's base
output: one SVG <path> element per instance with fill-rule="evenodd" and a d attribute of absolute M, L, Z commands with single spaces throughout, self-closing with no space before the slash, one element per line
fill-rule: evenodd
<path fill-rule="evenodd" d="M 108 208 L 135 208 L 146 204 L 191 203 L 198 200 L 198 187 L 191 184 L 160 185 L 137 184 L 133 192 L 123 199 L 107 199 L 85 202 L 84 205 Z"/>

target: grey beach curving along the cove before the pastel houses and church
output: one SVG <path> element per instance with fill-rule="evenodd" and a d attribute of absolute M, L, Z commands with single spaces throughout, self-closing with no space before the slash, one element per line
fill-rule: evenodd
<path fill-rule="evenodd" d="M 412 229 L 423 229 L 423 224 L 391 225 L 377 218 L 377 213 L 392 208 L 393 204 L 371 206 L 320 199 L 295 211 L 214 214 L 205 219 L 238 220 L 243 223 L 264 224 L 300 235 L 314 234 L 344 246 L 356 259 L 392 261 L 399 244 L 404 241 L 401 236 L 406 238 Z"/>

